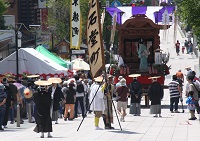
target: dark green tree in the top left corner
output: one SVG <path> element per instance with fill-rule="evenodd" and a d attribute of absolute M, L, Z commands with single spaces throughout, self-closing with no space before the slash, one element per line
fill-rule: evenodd
<path fill-rule="evenodd" d="M 5 21 L 3 18 L 3 14 L 6 12 L 9 4 L 5 0 L 0 0 L 0 29 L 5 29 Z"/>

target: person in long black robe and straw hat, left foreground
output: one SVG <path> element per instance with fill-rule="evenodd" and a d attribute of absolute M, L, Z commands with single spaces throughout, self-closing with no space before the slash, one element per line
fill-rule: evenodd
<path fill-rule="evenodd" d="M 41 132 L 41 138 L 44 138 L 44 133 L 48 132 L 47 137 L 51 138 L 50 132 L 53 131 L 50 116 L 51 93 L 49 93 L 47 89 L 47 85 L 51 83 L 46 81 L 46 84 L 40 84 L 40 81 L 36 81 L 35 84 L 40 86 L 34 94 L 34 102 L 36 105 L 36 127 L 34 131 L 37 133 Z"/>

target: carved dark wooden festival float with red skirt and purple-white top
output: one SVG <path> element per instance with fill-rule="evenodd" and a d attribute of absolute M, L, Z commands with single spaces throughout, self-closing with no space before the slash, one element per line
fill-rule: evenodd
<path fill-rule="evenodd" d="M 170 25 L 166 23 L 158 24 L 159 17 L 157 17 L 157 22 L 147 17 L 144 7 L 135 7 L 136 11 L 133 8 L 132 16 L 124 20 L 123 24 L 116 26 L 118 31 L 118 55 L 123 63 L 112 65 L 110 74 L 115 76 L 115 83 L 118 82 L 119 76 L 123 76 L 127 84 L 133 81 L 133 78 L 129 77 L 130 74 L 140 74 L 137 79 L 143 86 L 143 93 L 146 94 L 149 85 L 152 83 L 151 79 L 148 79 L 149 77 L 160 76 L 157 81 L 164 86 L 165 75 L 170 73 L 170 67 L 167 66 L 169 53 L 163 53 L 160 49 L 159 36 L 160 30 L 166 30 Z M 160 10 L 154 12 L 154 15 L 155 13 L 159 14 L 159 11 L 162 11 L 161 15 L 167 10 L 172 12 L 173 8 L 160 7 Z M 123 12 L 124 8 L 117 7 L 117 9 Z M 141 12 L 142 10 L 143 12 Z M 108 8 L 107 11 L 115 11 L 115 8 Z M 155 18 L 156 16 L 158 15 L 155 15 Z"/>

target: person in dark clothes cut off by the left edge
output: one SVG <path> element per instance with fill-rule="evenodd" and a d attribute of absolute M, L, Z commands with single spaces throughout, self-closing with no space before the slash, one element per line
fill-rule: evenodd
<path fill-rule="evenodd" d="M 5 86 L 0 83 L 0 131 L 4 130 L 2 128 L 3 120 L 4 120 L 4 115 L 6 112 L 6 99 L 7 95 L 6 92 L 4 91 Z"/>

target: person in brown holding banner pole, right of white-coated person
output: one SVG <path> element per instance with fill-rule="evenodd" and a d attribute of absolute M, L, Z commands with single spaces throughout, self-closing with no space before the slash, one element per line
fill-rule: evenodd
<path fill-rule="evenodd" d="M 104 103 L 105 103 L 105 110 L 103 111 L 103 121 L 105 125 L 105 129 L 114 129 L 114 127 L 111 126 L 111 123 L 113 123 L 113 108 L 112 108 L 112 97 L 114 93 L 114 85 L 113 85 L 113 76 L 108 75 L 107 77 L 107 84 L 104 84 Z"/>

